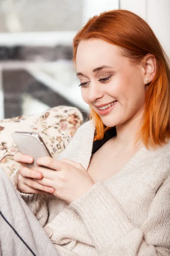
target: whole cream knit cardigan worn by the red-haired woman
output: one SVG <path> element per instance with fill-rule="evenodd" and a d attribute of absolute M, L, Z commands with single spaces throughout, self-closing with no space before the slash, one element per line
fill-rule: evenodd
<path fill-rule="evenodd" d="M 81 125 L 57 160 L 87 170 L 94 131 L 92 121 Z M 18 170 L 11 177 L 16 189 L 17 177 Z M 61 256 L 170 256 L 170 141 L 156 150 L 141 148 L 121 171 L 71 204 L 19 193 Z"/>

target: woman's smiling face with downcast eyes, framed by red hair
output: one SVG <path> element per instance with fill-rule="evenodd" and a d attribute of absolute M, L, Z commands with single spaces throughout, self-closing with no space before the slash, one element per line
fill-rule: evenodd
<path fill-rule="evenodd" d="M 144 68 L 132 65 L 119 49 L 100 39 L 81 41 L 77 49 L 77 73 L 82 73 L 77 77 L 80 83 L 87 83 L 81 86 L 82 99 L 108 127 L 130 122 L 144 110 Z M 110 68 L 95 70 L 101 66 Z M 116 105 L 105 111 L 108 113 L 96 107 L 113 101 Z"/>

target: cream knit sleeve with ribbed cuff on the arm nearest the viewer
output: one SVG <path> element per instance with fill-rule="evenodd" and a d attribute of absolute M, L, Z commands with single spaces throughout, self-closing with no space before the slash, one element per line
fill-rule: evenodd
<path fill-rule="evenodd" d="M 99 256 L 170 255 L 170 177 L 157 190 L 140 228 L 129 221 L 102 181 L 69 208 L 81 216 Z"/>

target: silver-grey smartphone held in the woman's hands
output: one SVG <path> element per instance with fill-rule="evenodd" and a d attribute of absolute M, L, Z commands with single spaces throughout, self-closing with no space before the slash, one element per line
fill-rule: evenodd
<path fill-rule="evenodd" d="M 11 136 L 21 153 L 34 158 L 33 163 L 27 163 L 28 168 L 37 166 L 36 161 L 38 157 L 52 157 L 39 134 L 35 132 L 15 131 Z"/>

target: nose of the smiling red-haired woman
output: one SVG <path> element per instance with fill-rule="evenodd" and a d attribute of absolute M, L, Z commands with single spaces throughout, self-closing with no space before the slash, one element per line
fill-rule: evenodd
<path fill-rule="evenodd" d="M 95 102 L 96 99 L 102 98 L 104 95 L 103 90 L 100 87 L 100 84 L 97 82 L 91 82 L 88 90 L 88 101 Z"/>

